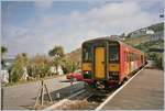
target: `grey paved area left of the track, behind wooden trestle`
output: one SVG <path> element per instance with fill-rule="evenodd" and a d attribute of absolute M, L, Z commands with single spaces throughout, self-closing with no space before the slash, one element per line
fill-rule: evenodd
<path fill-rule="evenodd" d="M 70 82 L 66 80 L 65 76 L 45 80 L 47 88 L 51 92 L 53 101 L 57 92 L 67 95 L 70 90 Z M 29 110 L 35 103 L 41 81 L 18 85 L 13 87 L 6 87 L 3 95 L 3 109 L 4 110 Z M 76 82 L 73 90 L 84 88 L 82 82 Z"/>

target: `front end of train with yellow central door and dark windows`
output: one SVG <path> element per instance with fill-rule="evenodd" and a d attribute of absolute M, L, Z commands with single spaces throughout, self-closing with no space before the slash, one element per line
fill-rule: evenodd
<path fill-rule="evenodd" d="M 94 40 L 82 44 L 81 70 L 87 86 L 103 89 L 119 82 L 119 51 L 117 41 Z"/>

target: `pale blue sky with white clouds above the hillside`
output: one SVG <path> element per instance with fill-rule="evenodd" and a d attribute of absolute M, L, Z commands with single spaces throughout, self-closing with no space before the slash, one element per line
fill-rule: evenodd
<path fill-rule="evenodd" d="M 1 1 L 1 43 L 7 56 L 65 53 L 84 41 L 120 35 L 163 21 L 163 0 Z"/>

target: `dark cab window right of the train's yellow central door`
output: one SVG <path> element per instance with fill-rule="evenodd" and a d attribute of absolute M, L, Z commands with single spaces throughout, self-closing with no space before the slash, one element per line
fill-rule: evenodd
<path fill-rule="evenodd" d="M 110 62 L 119 62 L 119 46 L 118 46 L 118 44 L 109 46 L 109 60 Z"/>

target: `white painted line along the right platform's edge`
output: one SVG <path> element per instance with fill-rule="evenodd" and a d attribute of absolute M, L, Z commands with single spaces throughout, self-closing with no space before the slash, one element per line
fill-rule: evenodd
<path fill-rule="evenodd" d="M 143 68 L 144 68 L 144 67 L 143 67 Z M 142 68 L 141 70 L 139 70 L 132 78 L 130 78 L 124 85 L 122 85 L 118 90 L 116 90 L 110 97 L 108 97 L 108 98 L 106 99 L 106 101 L 102 102 L 102 103 L 101 103 L 99 107 L 97 107 L 95 110 L 96 110 L 96 111 L 101 110 L 102 107 L 103 107 L 108 101 L 110 101 L 122 88 L 124 88 L 138 74 L 140 74 L 140 73 L 143 70 L 143 68 Z"/>

